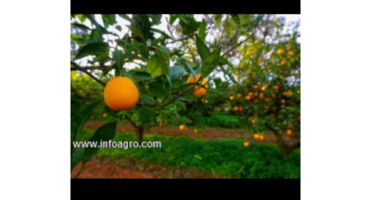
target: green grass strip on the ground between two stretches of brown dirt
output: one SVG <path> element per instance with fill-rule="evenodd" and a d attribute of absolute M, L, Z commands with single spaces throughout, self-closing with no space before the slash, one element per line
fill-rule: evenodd
<path fill-rule="evenodd" d="M 93 134 L 92 130 L 86 131 Z M 86 136 L 86 135 L 85 135 Z M 117 141 L 134 141 L 135 135 L 118 133 Z M 200 140 L 188 137 L 145 135 L 144 140 L 162 141 L 162 148 L 101 149 L 99 156 L 141 160 L 166 166 L 192 168 L 219 177 L 300 178 L 300 149 L 281 156 L 275 145 L 243 140 Z"/>

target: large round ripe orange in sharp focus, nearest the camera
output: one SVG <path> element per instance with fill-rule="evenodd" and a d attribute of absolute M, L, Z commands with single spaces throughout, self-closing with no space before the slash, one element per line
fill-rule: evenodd
<path fill-rule="evenodd" d="M 139 101 L 139 91 L 134 82 L 127 77 L 115 77 L 104 87 L 105 104 L 115 111 L 128 110 Z"/>

